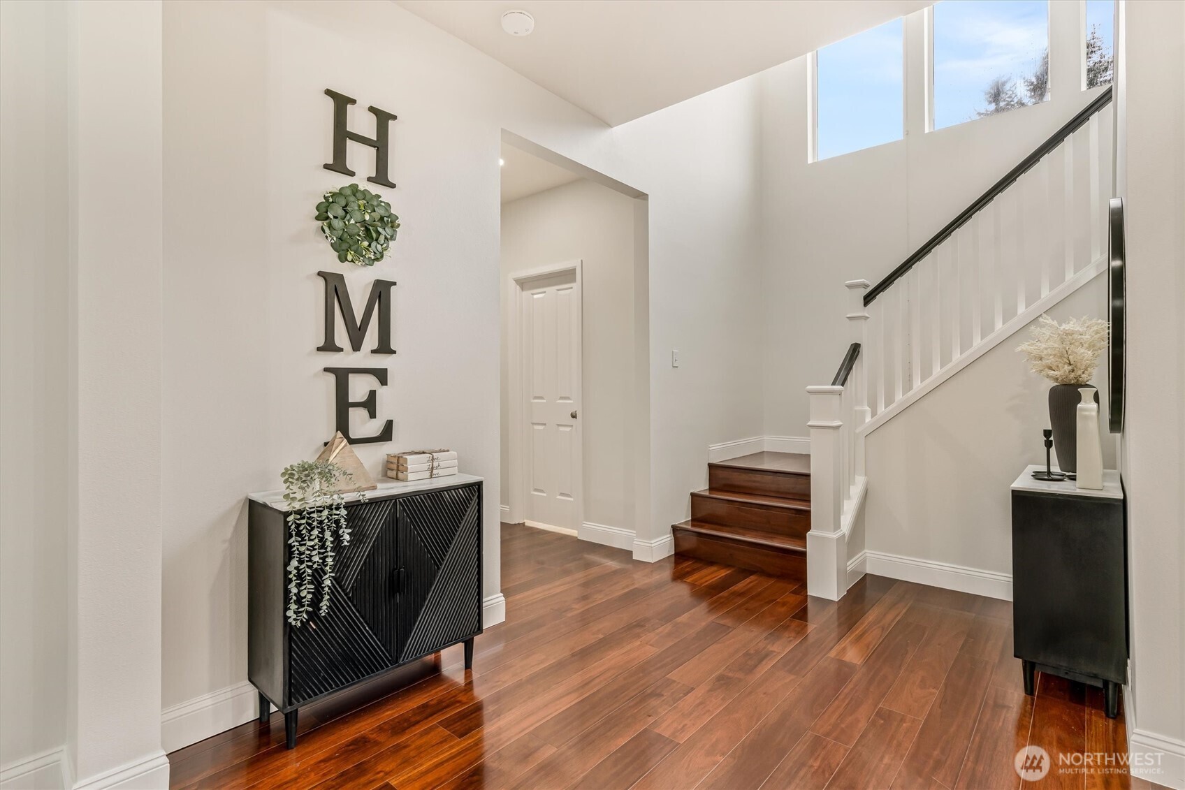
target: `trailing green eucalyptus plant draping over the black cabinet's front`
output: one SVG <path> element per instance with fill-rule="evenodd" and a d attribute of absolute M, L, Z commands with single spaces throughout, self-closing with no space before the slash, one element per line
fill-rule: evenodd
<path fill-rule="evenodd" d="M 320 614 L 329 610 L 333 586 L 333 546 L 350 542 L 346 500 L 338 492 L 350 473 L 329 461 L 301 461 L 280 473 L 288 506 L 288 622 L 300 627 L 313 608 L 318 577 L 321 580 Z M 359 494 L 363 497 L 361 494 Z M 365 497 L 363 497 L 365 499 Z"/>

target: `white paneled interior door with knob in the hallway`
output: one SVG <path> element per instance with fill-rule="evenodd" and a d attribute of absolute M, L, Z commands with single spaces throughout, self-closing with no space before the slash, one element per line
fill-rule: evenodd
<path fill-rule="evenodd" d="M 527 521 L 581 521 L 581 289 L 569 269 L 520 282 Z"/>

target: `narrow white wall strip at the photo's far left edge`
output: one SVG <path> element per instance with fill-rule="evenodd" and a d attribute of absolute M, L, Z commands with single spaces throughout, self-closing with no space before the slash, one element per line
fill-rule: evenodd
<path fill-rule="evenodd" d="M 0 4 L 0 766 L 65 741 L 65 20 Z"/>

